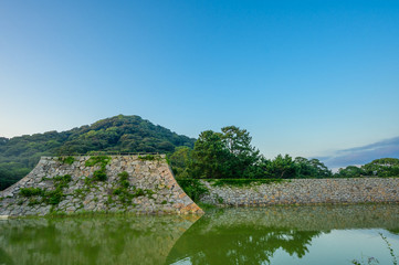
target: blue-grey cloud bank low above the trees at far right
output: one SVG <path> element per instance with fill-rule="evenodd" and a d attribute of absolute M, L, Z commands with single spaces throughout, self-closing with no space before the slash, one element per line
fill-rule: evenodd
<path fill-rule="evenodd" d="M 365 165 L 378 158 L 399 158 L 399 137 L 371 145 L 335 151 L 332 156 L 317 157 L 329 168 Z"/>

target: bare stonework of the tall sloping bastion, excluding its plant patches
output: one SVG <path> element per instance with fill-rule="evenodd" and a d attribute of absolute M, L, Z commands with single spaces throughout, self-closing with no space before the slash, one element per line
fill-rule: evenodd
<path fill-rule="evenodd" d="M 73 165 L 63 165 L 57 158 L 42 157 L 38 166 L 18 183 L 0 191 L 0 215 L 44 215 L 53 211 L 66 211 L 67 213 L 80 211 L 108 211 L 108 212 L 135 212 L 135 213 L 185 213 L 201 212 L 201 209 L 192 211 L 192 200 L 177 184 L 166 160 L 141 161 L 137 156 L 113 156 L 111 163 L 106 166 L 107 180 L 93 180 L 93 172 L 101 167 L 86 167 L 85 162 L 91 157 L 75 157 Z M 165 158 L 165 157 L 164 157 Z M 133 200 L 134 205 L 119 201 L 114 190 L 120 187 L 118 173 L 127 171 L 130 189 L 125 192 L 136 192 L 133 187 L 143 190 L 151 190 L 155 194 L 145 194 Z M 56 176 L 70 174 L 72 180 L 63 188 L 60 203 L 39 205 L 38 202 L 29 203 L 27 198 L 19 194 L 21 188 L 40 188 L 55 190 Z M 48 180 L 43 180 L 43 178 Z M 168 187 L 166 186 L 168 184 Z M 178 199 L 178 195 L 180 198 Z M 174 200 L 172 198 L 176 198 Z M 34 199 L 34 198 L 33 198 Z M 49 198 L 48 198 L 49 199 Z M 48 201 L 48 200 L 45 200 Z M 164 201 L 168 201 L 165 204 Z"/>

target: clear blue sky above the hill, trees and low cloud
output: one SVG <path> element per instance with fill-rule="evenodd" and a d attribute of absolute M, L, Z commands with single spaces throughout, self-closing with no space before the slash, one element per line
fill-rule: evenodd
<path fill-rule="evenodd" d="M 0 1 L 0 136 L 118 114 L 267 158 L 399 136 L 399 1 Z"/>

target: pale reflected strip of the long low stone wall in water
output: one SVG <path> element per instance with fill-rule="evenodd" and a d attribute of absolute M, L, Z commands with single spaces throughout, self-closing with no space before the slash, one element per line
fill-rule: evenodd
<path fill-rule="evenodd" d="M 204 222 L 208 220 L 208 222 Z M 267 208 L 227 208 L 201 219 L 203 233 L 218 227 L 274 227 L 297 231 L 340 229 L 398 229 L 398 204 L 285 205 Z"/>

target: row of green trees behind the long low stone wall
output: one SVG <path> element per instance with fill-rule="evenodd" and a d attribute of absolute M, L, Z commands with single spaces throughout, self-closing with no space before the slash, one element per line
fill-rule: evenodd
<path fill-rule="evenodd" d="M 366 176 L 399 177 L 399 159 L 382 158 L 361 168 L 349 166 L 333 174 L 318 159 L 279 155 L 266 159 L 251 146 L 250 134 L 235 126 L 221 132 L 200 134 L 193 149 L 178 147 L 169 157 L 180 179 L 304 179 L 358 178 Z"/>

